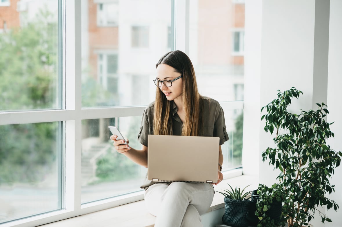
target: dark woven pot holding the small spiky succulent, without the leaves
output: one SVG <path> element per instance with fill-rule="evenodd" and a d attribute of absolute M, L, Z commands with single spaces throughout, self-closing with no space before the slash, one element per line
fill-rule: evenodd
<path fill-rule="evenodd" d="M 250 207 L 249 200 L 236 200 L 224 197 L 224 215 L 222 222 L 232 227 L 248 227 L 247 212 Z"/>

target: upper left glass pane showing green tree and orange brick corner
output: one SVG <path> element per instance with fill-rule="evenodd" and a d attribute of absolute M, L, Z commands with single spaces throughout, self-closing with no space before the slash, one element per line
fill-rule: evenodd
<path fill-rule="evenodd" d="M 12 4 L 0 7 L 0 111 L 60 109 L 58 1 Z"/>

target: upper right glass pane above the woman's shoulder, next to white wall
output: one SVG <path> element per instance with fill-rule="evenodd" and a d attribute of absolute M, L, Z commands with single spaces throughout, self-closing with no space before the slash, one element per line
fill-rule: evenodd
<path fill-rule="evenodd" d="M 243 34 L 236 31 L 244 30 L 245 4 L 190 1 L 189 19 L 189 57 L 199 92 L 219 102 L 241 100 L 244 56 L 235 51 L 243 51 Z"/>

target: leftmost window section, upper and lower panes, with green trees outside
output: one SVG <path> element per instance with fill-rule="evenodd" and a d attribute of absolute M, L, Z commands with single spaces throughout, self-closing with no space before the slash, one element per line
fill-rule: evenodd
<path fill-rule="evenodd" d="M 24 3 L 0 7 L 0 224 L 64 209 L 64 122 L 30 115 L 62 108 L 61 5 Z"/>

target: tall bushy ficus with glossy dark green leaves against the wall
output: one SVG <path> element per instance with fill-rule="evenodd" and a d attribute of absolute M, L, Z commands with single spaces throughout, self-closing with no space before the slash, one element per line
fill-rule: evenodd
<path fill-rule="evenodd" d="M 317 103 L 317 110 L 300 110 L 299 114 L 290 113 L 287 107 L 293 97 L 301 91 L 291 88 L 280 92 L 278 98 L 262 107 L 266 111 L 261 120 L 266 121 L 264 130 L 275 134 L 275 147 L 268 147 L 263 153 L 263 161 L 280 170 L 279 185 L 284 190 L 283 214 L 289 226 L 308 225 L 317 211 L 321 222 L 331 220 L 321 213 L 317 206 L 326 206 L 327 210 L 338 209 L 335 201 L 327 196 L 334 192 L 329 178 L 334 168 L 341 163 L 341 152 L 327 145 L 327 139 L 334 137 L 327 123 L 329 113 L 324 103 Z"/>

